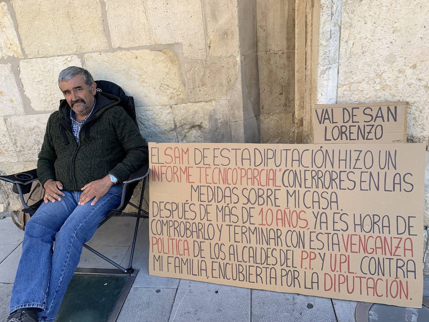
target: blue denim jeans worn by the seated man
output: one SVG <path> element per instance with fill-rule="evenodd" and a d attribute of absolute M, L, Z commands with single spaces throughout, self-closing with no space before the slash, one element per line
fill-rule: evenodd
<path fill-rule="evenodd" d="M 39 207 L 25 226 L 9 313 L 37 307 L 39 322 L 54 322 L 79 264 L 82 244 L 91 239 L 106 213 L 119 206 L 122 188 L 113 185 L 94 206 L 91 201 L 78 206 L 83 191 L 63 191 L 61 201 Z"/>

